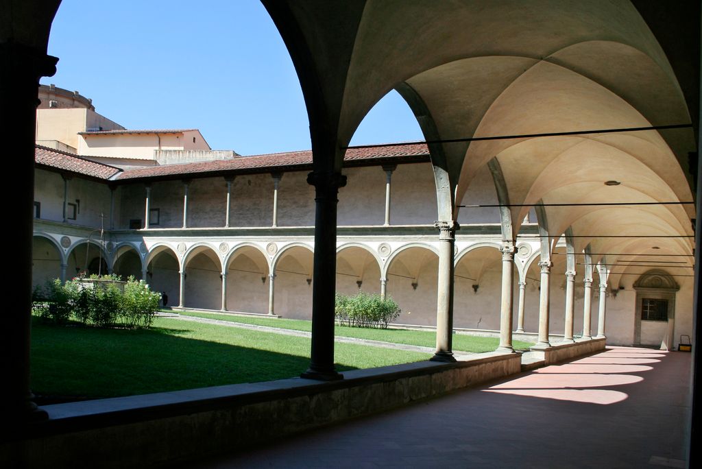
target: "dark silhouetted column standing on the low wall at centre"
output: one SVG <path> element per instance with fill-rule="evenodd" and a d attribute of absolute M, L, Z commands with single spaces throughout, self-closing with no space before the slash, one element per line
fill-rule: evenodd
<path fill-rule="evenodd" d="M 303 378 L 342 379 L 334 368 L 334 294 L 336 289 L 336 206 L 338 190 L 346 185 L 340 173 L 313 171 L 314 185 L 314 285 L 312 285 L 312 350 L 310 368 Z M 331 272 L 331 275 L 330 273 Z"/>

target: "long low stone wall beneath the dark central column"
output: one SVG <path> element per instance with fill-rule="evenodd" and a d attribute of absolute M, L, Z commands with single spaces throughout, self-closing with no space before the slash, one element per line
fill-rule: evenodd
<path fill-rule="evenodd" d="M 467 388 L 520 371 L 521 355 L 418 362 L 44 407 L 51 417 L 0 446 L 8 467 L 142 467 L 188 461 Z"/>

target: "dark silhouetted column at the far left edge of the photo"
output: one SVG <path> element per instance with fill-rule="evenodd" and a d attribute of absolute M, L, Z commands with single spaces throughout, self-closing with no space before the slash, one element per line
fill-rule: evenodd
<path fill-rule="evenodd" d="M 13 4 L 13 13 L 24 18 L 27 25 L 42 29 L 41 14 L 37 8 Z M 47 6 L 46 10 L 52 7 Z M 7 10 L 4 9 L 3 13 Z M 34 18 L 36 17 L 36 18 Z M 31 19 L 30 19 L 31 18 Z M 9 23 L 13 21 L 10 15 Z M 1 21 L 4 25 L 5 18 Z M 48 25 L 46 25 L 48 33 Z M 7 32 L 7 31 L 4 31 Z M 18 37 L 22 34 L 18 32 Z M 56 71 L 57 58 L 20 44 L 0 43 L 0 126 L 8 138 L 3 143 L 4 152 L 11 155 L 12 180 L 15 184 L 2 185 L 6 201 L 6 220 L 11 220 L 12 254 L 17 267 L 13 267 L 12 282 L 4 286 L 6 309 L 0 331 L 0 441 L 6 441 L 8 432 L 17 432 L 23 422 L 47 418 L 46 412 L 34 404 L 29 390 L 29 345 L 32 326 L 32 230 L 34 218 L 34 138 L 37 122 L 37 88 L 39 77 L 51 77 Z M 64 213 L 64 218 L 65 213 Z M 20 438 L 17 433 L 12 437 Z"/>

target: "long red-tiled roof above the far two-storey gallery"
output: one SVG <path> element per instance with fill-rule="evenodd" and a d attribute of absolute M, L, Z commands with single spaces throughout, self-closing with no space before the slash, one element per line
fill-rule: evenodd
<path fill-rule="evenodd" d="M 344 161 L 391 159 L 402 161 L 403 157 L 422 157 L 429 154 L 427 145 L 383 145 L 378 147 L 350 148 Z M 218 161 L 151 166 L 149 168 L 128 169 L 117 176 L 117 180 L 133 178 L 165 178 L 186 176 L 197 173 L 217 173 L 221 171 L 246 171 L 253 169 L 304 169 L 312 165 L 312 151 L 259 154 L 251 157 L 237 157 Z"/>

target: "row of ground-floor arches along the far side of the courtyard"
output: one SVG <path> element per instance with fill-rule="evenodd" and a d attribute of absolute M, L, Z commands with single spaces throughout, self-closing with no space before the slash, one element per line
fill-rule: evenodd
<path fill-rule="evenodd" d="M 164 293 L 165 305 L 309 319 L 313 251 L 303 242 L 287 244 L 272 256 L 252 242 L 236 244 L 223 255 L 213 244 L 197 243 L 180 256 L 178 246 L 168 242 L 157 242 L 145 253 L 140 253 L 138 244 L 121 242 L 111 255 L 94 240 L 82 239 L 64 250 L 51 235 L 37 233 L 34 244 L 35 285 L 55 277 L 66 279 L 74 275 L 73 269 L 82 271 L 86 265 L 88 273 L 98 273 L 97 262 L 101 260 L 102 273 L 145 279 L 152 289 Z M 499 249 L 497 243 L 479 242 L 456 254 L 458 327 L 499 329 Z M 519 283 L 519 295 L 524 295 L 527 284 L 536 292 L 541 282 L 536 273 L 538 263 L 534 262 L 539 258 L 538 250 L 517 257 L 513 283 Z M 437 271 L 438 252 L 431 244 L 407 243 L 385 258 L 361 242 L 341 244 L 337 250 L 337 291 L 387 293 L 403 310 L 398 322 L 435 325 Z M 527 310 L 536 310 L 538 293 L 531 298 Z M 556 315 L 552 324 L 555 331 L 559 320 Z M 527 319 L 527 330 L 536 329 L 534 321 L 534 315 Z M 524 330 L 523 299 L 515 322 L 517 330 Z"/>

